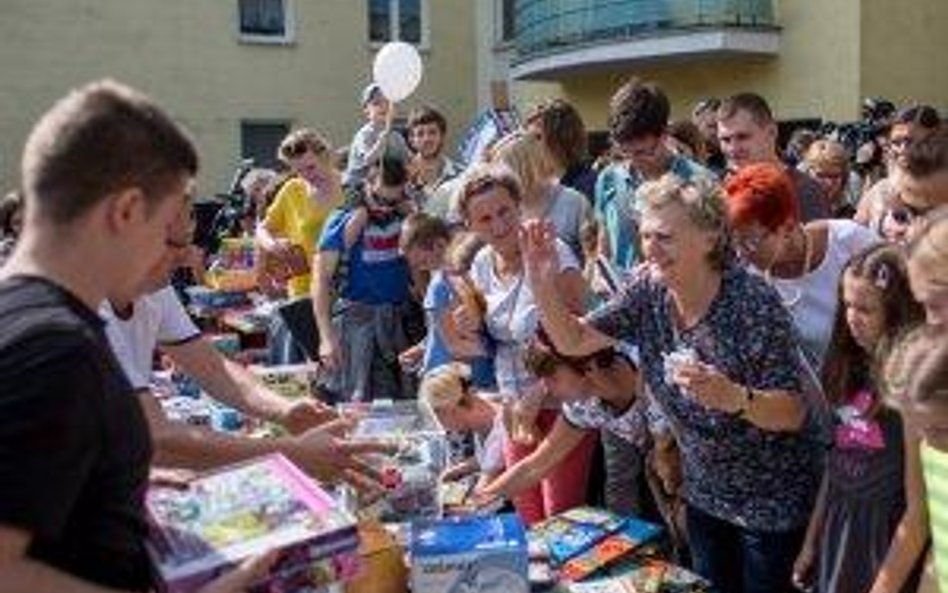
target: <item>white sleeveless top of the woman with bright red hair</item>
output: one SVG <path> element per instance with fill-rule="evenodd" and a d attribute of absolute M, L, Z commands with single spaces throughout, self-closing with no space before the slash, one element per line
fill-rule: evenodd
<path fill-rule="evenodd" d="M 877 234 L 852 220 L 826 222 L 829 236 L 820 265 L 799 278 L 773 279 L 784 306 L 793 315 L 807 359 L 817 370 L 823 366 L 832 338 L 843 268 L 854 255 L 881 241 Z"/>

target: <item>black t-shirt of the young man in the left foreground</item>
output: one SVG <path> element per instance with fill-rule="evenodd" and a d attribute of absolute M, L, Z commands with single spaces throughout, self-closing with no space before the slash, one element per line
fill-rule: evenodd
<path fill-rule="evenodd" d="M 145 590 L 151 444 L 102 326 L 49 281 L 0 281 L 0 524 L 37 561 Z"/>

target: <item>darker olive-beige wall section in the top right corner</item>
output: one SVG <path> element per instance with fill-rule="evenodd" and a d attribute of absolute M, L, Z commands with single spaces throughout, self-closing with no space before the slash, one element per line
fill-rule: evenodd
<path fill-rule="evenodd" d="M 948 115 L 948 2 L 863 0 L 862 96 L 928 103 Z"/>

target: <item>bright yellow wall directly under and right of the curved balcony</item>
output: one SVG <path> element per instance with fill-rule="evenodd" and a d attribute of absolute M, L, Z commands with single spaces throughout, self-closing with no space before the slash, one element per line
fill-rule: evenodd
<path fill-rule="evenodd" d="M 776 57 L 644 64 L 576 76 L 560 84 L 521 83 L 517 96 L 529 104 L 539 96 L 562 93 L 580 107 L 590 128 L 602 129 L 608 97 L 623 80 L 637 75 L 662 85 L 674 117 L 687 116 L 701 98 L 751 90 L 766 97 L 782 119 L 850 120 L 858 115 L 861 96 L 860 6 L 859 0 L 831 4 L 828 10 L 823 2 L 778 2 L 782 32 Z"/>

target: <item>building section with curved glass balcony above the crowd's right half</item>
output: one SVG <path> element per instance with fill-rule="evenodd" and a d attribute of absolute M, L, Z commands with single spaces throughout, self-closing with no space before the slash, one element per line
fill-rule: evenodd
<path fill-rule="evenodd" d="M 493 29 L 514 32 L 481 54 L 498 64 L 479 71 L 507 73 L 521 109 L 550 95 L 572 101 L 593 130 L 605 128 L 609 96 L 632 75 L 658 82 L 676 117 L 700 99 L 745 90 L 785 120 L 852 121 L 865 97 L 948 108 L 938 63 L 948 52 L 944 0 L 494 4 Z"/>

